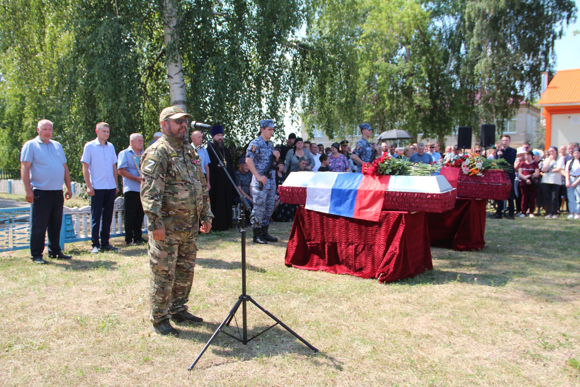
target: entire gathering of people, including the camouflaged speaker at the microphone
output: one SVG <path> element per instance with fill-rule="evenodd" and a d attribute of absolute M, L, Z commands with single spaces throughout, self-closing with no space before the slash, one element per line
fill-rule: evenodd
<path fill-rule="evenodd" d="M 276 125 L 260 120 L 259 136 L 239 151 L 224 146 L 223 127 L 213 126 L 212 141 L 203 146 L 203 135 L 191 133 L 187 138 L 191 115 L 179 107 L 167 107 L 160 113 L 161 132 L 144 150 L 140 133 L 129 136 L 129 146 L 118 154 L 108 142 L 111 128 L 106 122 L 96 124 L 96 138 L 85 144 L 81 157 L 86 193 L 90 196 L 92 253 L 116 251 L 109 242 L 115 196 L 119 192 L 118 175 L 122 176 L 125 197 L 125 243 L 147 243 L 150 264 L 151 330 L 161 335 L 178 335 L 170 320 L 199 323 L 201 317 L 187 307 L 194 277 L 198 232 L 231 227 L 232 205 L 237 192 L 252 205 L 260 220 L 252 224 L 254 243 L 277 241 L 269 234 L 271 220 L 293 220 L 296 205 L 280 201 L 278 187 L 289 173 L 301 171 L 361 172 L 363 163 L 380 154 L 411 162 L 432 164 L 447 155 L 460 155 L 458 147 L 439 152 L 436 143 L 418 142 L 397 150 L 395 144 L 369 142 L 372 127 L 360 124 L 362 138 L 354 149 L 343 140 L 330 147 L 288 136 L 284 144 L 274 147 L 271 138 Z M 60 229 L 64 199 L 72 196 L 67 158 L 60 143 L 52 140 L 53 124 L 41 120 L 38 136 L 26 142 L 21 150 L 21 178 L 26 200 L 32 203 L 30 251 L 34 263 L 48 263 L 42 257 L 45 234 L 48 254 L 53 258 L 71 259 L 60 247 Z M 507 213 L 534 217 L 539 208 L 546 218 L 557 218 L 568 212 L 568 218 L 580 219 L 580 148 L 570 143 L 560 149 L 530 149 L 524 143 L 510 147 L 508 135 L 491 150 L 483 152 L 474 146 L 469 154 L 503 158 L 514 170 L 512 192 Z M 234 166 L 233 160 L 237 160 Z M 235 171 L 234 171 L 235 170 Z M 230 184 L 226 171 L 233 176 Z M 63 185 L 66 190 L 63 190 Z M 236 189 L 237 188 L 237 189 Z M 515 203 L 514 203 L 514 199 Z M 504 202 L 497 203 L 496 218 L 503 217 Z M 538 212 L 534 212 L 538 208 Z M 143 217 L 147 215 L 147 241 L 142 237 Z"/>

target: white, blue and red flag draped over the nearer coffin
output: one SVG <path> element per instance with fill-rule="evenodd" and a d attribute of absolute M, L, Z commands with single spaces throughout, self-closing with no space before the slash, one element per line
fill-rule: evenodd
<path fill-rule="evenodd" d="M 306 188 L 306 209 L 378 222 L 391 176 L 349 172 L 314 173 Z"/>

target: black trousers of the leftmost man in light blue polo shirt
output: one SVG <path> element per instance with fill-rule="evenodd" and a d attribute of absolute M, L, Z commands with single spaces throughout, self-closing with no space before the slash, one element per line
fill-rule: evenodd
<path fill-rule="evenodd" d="M 44 237 L 48 232 L 48 254 L 58 254 L 60 226 L 63 223 L 63 190 L 32 190 L 32 225 L 30 230 L 30 254 L 42 256 Z"/>

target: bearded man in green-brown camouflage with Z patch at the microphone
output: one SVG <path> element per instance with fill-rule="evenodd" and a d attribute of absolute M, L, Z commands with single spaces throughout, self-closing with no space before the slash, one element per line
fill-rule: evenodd
<path fill-rule="evenodd" d="M 148 219 L 151 330 L 178 335 L 169 319 L 201 322 L 187 311 L 197 252 L 198 223 L 208 233 L 213 214 L 200 157 L 187 142 L 190 114 L 161 111 L 162 136 L 141 157 L 141 201 Z"/>

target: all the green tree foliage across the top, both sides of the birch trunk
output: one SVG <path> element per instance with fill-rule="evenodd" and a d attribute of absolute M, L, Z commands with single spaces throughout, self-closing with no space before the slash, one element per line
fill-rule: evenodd
<path fill-rule="evenodd" d="M 77 180 L 97 122 L 117 150 L 133 132 L 150 140 L 175 50 L 187 110 L 223 123 L 230 141 L 253 138 L 260 118 L 282 122 L 288 106 L 330 138 L 361 121 L 439 138 L 501 123 L 537 95 L 575 18 L 571 0 L 175 0 L 166 48 L 162 4 L 0 0 L 0 168 L 19 166 L 41 118 Z"/>

